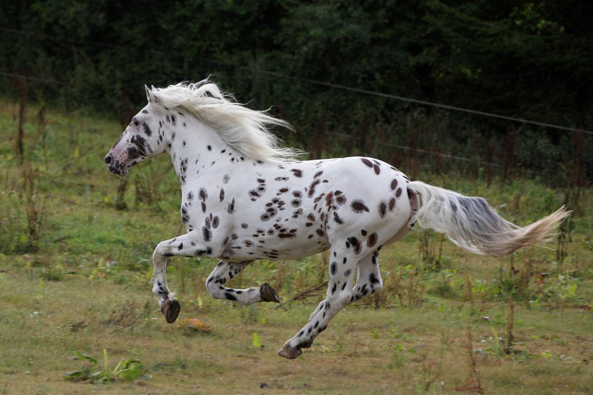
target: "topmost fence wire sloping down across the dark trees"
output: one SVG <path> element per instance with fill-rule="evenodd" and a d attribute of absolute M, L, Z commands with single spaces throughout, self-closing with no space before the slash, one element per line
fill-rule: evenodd
<path fill-rule="evenodd" d="M 12 28 L 5 28 L 5 27 L 0 27 L 0 31 L 5 31 L 6 33 L 24 34 L 24 35 L 31 35 L 31 36 L 33 36 L 35 34 L 30 31 L 17 30 L 17 29 L 12 29 Z M 118 46 L 115 44 L 108 44 L 108 43 L 100 43 L 97 41 L 76 41 L 76 40 L 68 40 L 68 41 L 72 42 L 72 43 L 78 43 L 78 44 L 89 44 L 89 45 L 94 45 L 94 46 L 102 46 L 102 47 L 110 47 L 110 48 L 114 48 L 114 49 L 127 50 L 127 48 L 125 46 Z M 153 52 L 159 52 L 159 53 L 164 53 L 164 54 L 173 53 L 173 54 L 177 54 L 178 56 L 183 56 L 183 54 L 181 54 L 180 52 L 177 52 L 177 51 L 163 51 L 163 50 L 158 50 L 158 49 L 151 49 L 151 50 Z M 498 118 L 498 119 L 502 119 L 502 120 L 514 121 L 514 122 L 519 122 L 519 123 L 524 123 L 524 124 L 531 124 L 531 125 L 541 126 L 541 127 L 549 127 L 551 129 L 558 129 L 558 130 L 565 130 L 565 131 L 580 130 L 580 131 L 582 131 L 582 133 L 593 135 L 593 131 L 584 130 L 584 129 L 576 128 L 576 127 L 567 127 L 567 126 L 551 124 L 551 123 L 546 123 L 546 122 L 541 122 L 541 121 L 528 120 L 526 118 L 511 117 L 508 115 L 489 113 L 487 111 L 472 110 L 471 108 L 457 107 L 454 105 L 442 104 L 442 103 L 438 103 L 438 102 L 414 99 L 414 98 L 409 98 L 409 97 L 404 97 L 404 96 L 399 96 L 399 95 L 386 94 L 383 92 L 371 91 L 369 89 L 355 88 L 353 86 L 347 86 L 347 85 L 342 85 L 342 84 L 334 84 L 333 82 L 320 81 L 320 80 L 311 79 L 311 78 L 304 78 L 304 77 L 300 77 L 300 76 L 294 76 L 294 75 L 289 75 L 289 74 L 280 73 L 280 72 L 274 72 L 274 71 L 270 71 L 270 70 L 253 68 L 250 66 L 234 65 L 232 63 L 224 62 L 224 61 L 218 60 L 218 59 L 212 59 L 209 57 L 199 56 L 198 59 L 204 60 L 209 63 L 214 63 L 216 65 L 229 66 L 231 68 L 248 70 L 251 72 L 260 73 L 260 74 L 264 74 L 264 75 L 276 76 L 279 78 L 292 79 L 294 81 L 306 82 L 308 84 L 313 84 L 313 85 L 327 86 L 329 88 L 343 89 L 343 90 L 350 91 L 350 92 L 357 92 L 357 93 L 366 94 L 366 95 L 374 95 L 377 97 L 396 99 L 399 101 L 405 101 L 405 102 L 421 104 L 421 105 L 428 105 L 431 107 L 444 108 L 445 110 L 460 111 L 460 112 L 467 113 L 467 114 L 482 115 L 484 117 Z"/>

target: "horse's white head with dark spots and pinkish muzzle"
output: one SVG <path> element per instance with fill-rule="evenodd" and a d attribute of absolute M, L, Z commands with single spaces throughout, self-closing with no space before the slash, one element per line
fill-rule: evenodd
<path fill-rule="evenodd" d="M 146 98 L 154 101 L 151 89 L 146 88 Z M 165 149 L 166 143 L 160 135 L 158 114 L 146 105 L 132 118 L 122 136 L 113 144 L 105 157 L 109 171 L 126 175 L 127 170 L 136 163 L 157 156 Z"/>

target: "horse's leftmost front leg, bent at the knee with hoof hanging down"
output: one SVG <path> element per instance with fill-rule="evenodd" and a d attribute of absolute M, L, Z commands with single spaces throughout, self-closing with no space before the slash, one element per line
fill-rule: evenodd
<path fill-rule="evenodd" d="M 167 259 L 173 255 L 179 256 L 209 256 L 212 248 L 203 246 L 197 235 L 186 233 L 174 239 L 164 240 L 158 243 L 152 254 L 154 264 L 154 283 L 152 293 L 158 298 L 158 305 L 161 313 L 164 314 L 168 323 L 173 323 L 179 315 L 179 302 L 174 294 L 167 287 Z"/>

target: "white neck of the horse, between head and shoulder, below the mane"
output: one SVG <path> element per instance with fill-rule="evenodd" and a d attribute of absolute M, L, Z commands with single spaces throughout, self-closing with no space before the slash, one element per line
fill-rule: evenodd
<path fill-rule="evenodd" d="M 167 146 L 182 191 L 192 181 L 211 174 L 212 168 L 226 163 L 221 159 L 234 152 L 211 127 L 193 117 L 183 118 L 168 132 Z"/>

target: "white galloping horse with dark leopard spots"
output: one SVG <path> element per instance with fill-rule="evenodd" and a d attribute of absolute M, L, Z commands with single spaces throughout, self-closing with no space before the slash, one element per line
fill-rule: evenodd
<path fill-rule="evenodd" d="M 167 287 L 170 256 L 219 258 L 206 280 L 213 298 L 240 304 L 276 302 L 267 283 L 225 287 L 255 259 L 304 258 L 329 249 L 325 300 L 278 351 L 294 359 L 349 303 L 383 287 L 381 248 L 416 225 L 445 233 L 466 251 L 505 257 L 549 240 L 569 210 L 528 226 L 506 221 L 481 197 L 411 181 L 397 168 L 366 157 L 297 160 L 273 127 L 292 129 L 269 111 L 251 110 L 205 79 L 166 88 L 145 85 L 147 104 L 104 161 L 125 176 L 162 153 L 181 184 L 187 233 L 158 243 L 152 259 L 162 314 L 173 323 L 180 304 Z M 352 285 L 356 272 L 356 284 Z"/>

